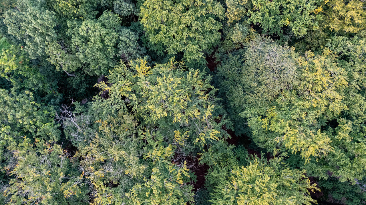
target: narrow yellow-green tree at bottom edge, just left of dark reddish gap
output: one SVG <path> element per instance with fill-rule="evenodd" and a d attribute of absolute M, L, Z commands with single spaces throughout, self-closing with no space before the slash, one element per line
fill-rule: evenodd
<path fill-rule="evenodd" d="M 163 132 L 146 130 L 142 134 L 147 145 L 143 148 L 143 159 L 149 163 L 143 181 L 136 183 L 126 196 L 128 204 L 187 204 L 193 202 L 193 174 L 187 162 L 179 159 L 187 146 L 184 135 L 175 132 L 174 140 L 166 139 Z M 178 156 L 177 156 L 178 155 Z"/>

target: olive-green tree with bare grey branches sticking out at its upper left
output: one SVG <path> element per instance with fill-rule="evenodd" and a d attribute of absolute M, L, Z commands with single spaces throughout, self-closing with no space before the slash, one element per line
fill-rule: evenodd
<path fill-rule="evenodd" d="M 74 111 L 63 105 L 56 119 L 78 148 L 74 158 L 81 158 L 78 169 L 93 204 L 123 204 L 125 193 L 148 169 L 141 159 L 144 143 L 137 122 L 123 108 L 113 111 L 101 97 L 88 110 L 77 102 L 73 105 Z"/>

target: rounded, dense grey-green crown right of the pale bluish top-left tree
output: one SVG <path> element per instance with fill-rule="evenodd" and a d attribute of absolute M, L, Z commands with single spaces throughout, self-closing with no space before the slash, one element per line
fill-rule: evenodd
<path fill-rule="evenodd" d="M 97 20 L 68 22 L 73 53 L 89 64 L 87 73 L 100 75 L 115 65 L 119 24 L 119 16 L 111 12 L 104 12 Z"/>

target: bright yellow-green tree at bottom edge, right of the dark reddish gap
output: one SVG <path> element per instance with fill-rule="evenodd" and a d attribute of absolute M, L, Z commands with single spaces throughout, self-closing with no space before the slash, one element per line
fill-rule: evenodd
<path fill-rule="evenodd" d="M 207 201 L 212 204 L 311 204 L 309 193 L 317 190 L 303 175 L 305 170 L 290 169 L 282 158 L 248 156 L 238 146 L 218 143 L 202 155 L 211 168 L 206 175 Z M 221 159 L 220 159 L 221 158 Z M 205 193 L 206 192 L 206 193 Z M 209 193 L 209 197 L 207 194 Z M 287 195 L 288 194 L 288 195 Z M 200 199 L 197 199 L 199 204 Z"/>

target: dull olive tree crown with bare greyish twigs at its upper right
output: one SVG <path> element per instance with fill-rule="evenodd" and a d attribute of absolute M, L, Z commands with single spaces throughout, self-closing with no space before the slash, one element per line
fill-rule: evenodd
<path fill-rule="evenodd" d="M 244 49 L 221 55 L 220 59 L 214 82 L 236 135 L 247 132 L 246 121 L 239 116 L 245 108 L 265 111 L 282 90 L 298 81 L 293 49 L 268 38 L 257 37 Z"/>

